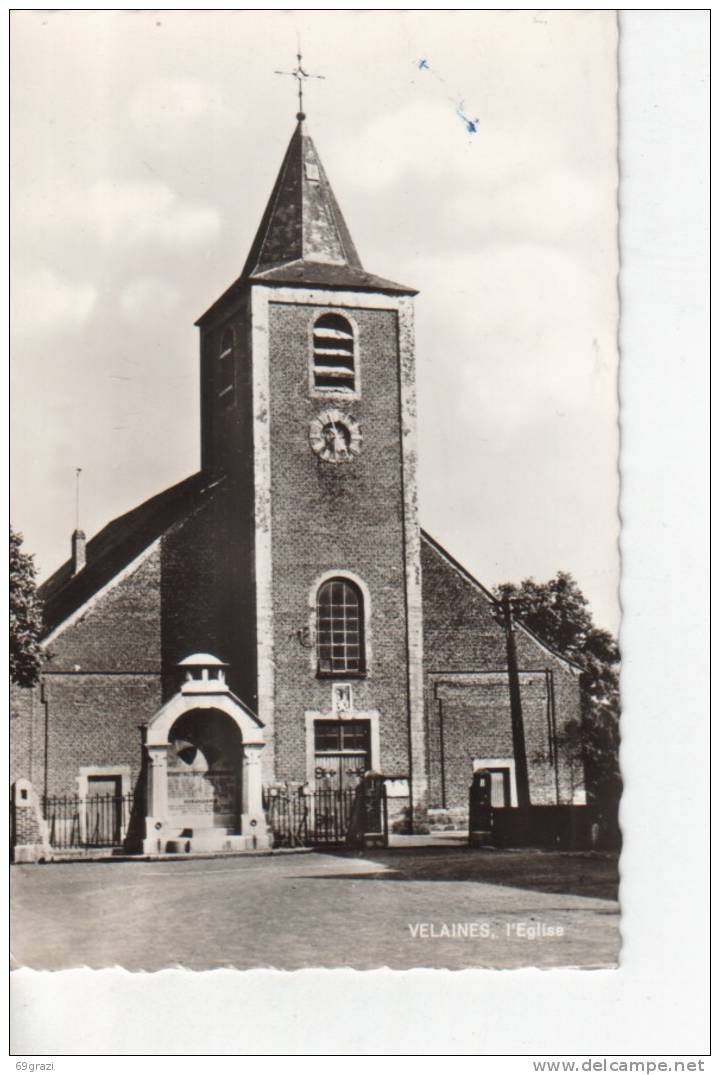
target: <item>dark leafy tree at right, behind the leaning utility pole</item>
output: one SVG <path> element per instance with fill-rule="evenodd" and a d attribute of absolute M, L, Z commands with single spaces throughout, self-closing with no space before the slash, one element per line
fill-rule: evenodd
<path fill-rule="evenodd" d="M 559 729 L 558 746 L 571 761 L 581 755 L 589 800 L 614 829 L 622 790 L 617 642 L 609 631 L 595 627 L 587 599 L 567 572 L 559 571 L 547 583 L 505 583 L 495 596 L 507 596 L 521 624 L 581 668 L 580 718 Z"/>

